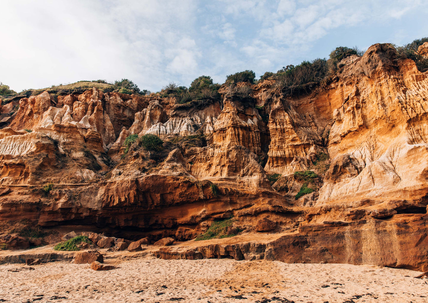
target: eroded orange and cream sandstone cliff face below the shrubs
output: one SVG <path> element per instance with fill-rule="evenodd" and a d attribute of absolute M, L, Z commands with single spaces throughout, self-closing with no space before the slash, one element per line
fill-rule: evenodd
<path fill-rule="evenodd" d="M 156 241 L 233 217 L 249 239 L 281 236 L 187 257 L 426 269 L 427 74 L 386 44 L 340 66 L 310 94 L 284 96 L 275 80 L 238 84 L 247 95 L 224 85 L 202 108 L 96 88 L 23 98 L 0 129 L 0 220 Z M 134 134 L 163 148 L 124 147 Z"/>

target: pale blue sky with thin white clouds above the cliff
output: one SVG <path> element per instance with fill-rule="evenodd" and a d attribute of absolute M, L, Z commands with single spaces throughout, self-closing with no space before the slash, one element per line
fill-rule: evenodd
<path fill-rule="evenodd" d="M 428 36 L 427 0 L 2 0 L 0 82 L 17 92 L 128 78 L 143 90 L 222 84 Z"/>

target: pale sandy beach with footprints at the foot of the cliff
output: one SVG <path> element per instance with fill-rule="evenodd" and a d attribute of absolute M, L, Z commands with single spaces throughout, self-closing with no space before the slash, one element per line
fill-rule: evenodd
<path fill-rule="evenodd" d="M 419 272 L 372 265 L 230 259 L 107 259 L 119 268 L 58 261 L 0 265 L 0 302 L 427 302 Z M 12 271 L 15 270 L 15 271 Z M 18 271 L 16 271 L 18 270 Z"/>

